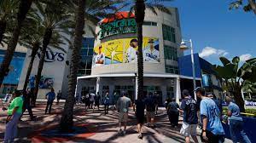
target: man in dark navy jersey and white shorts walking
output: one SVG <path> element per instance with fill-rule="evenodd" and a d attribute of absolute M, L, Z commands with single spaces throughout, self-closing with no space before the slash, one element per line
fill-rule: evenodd
<path fill-rule="evenodd" d="M 196 127 L 198 123 L 197 111 L 196 100 L 189 97 L 189 90 L 184 89 L 180 110 L 180 112 L 183 113 L 183 126 L 180 129 L 180 133 L 185 136 L 186 143 L 190 142 L 190 135 L 195 143 L 198 143 L 196 137 Z"/>

